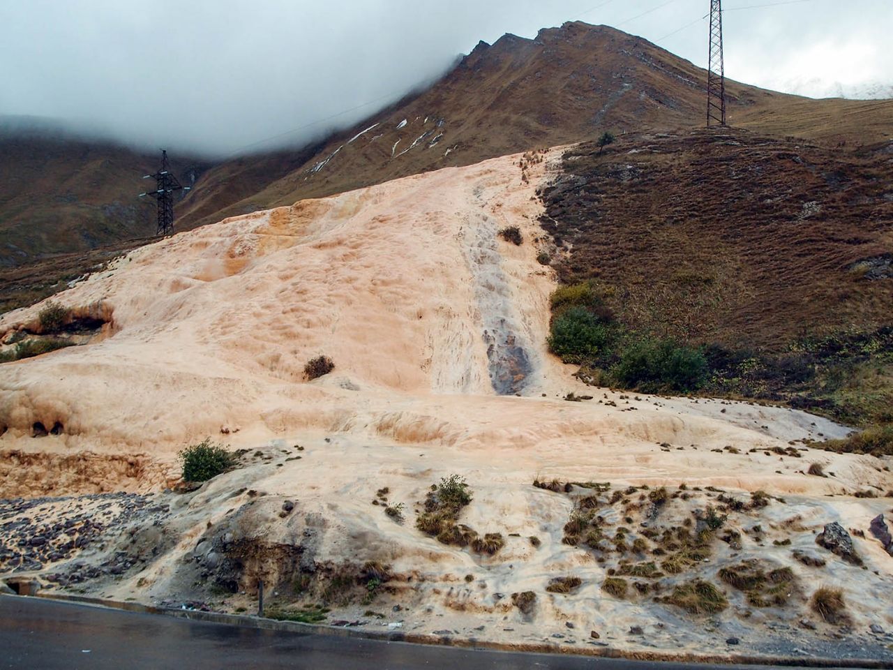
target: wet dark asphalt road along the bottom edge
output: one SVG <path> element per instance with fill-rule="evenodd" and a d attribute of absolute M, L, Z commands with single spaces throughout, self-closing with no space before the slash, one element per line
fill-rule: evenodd
<path fill-rule="evenodd" d="M 690 667 L 690 664 L 474 651 L 265 631 L 53 600 L 0 596 L 0 668 L 15 670 L 680 670 Z M 730 670 L 744 666 L 720 667 Z"/>

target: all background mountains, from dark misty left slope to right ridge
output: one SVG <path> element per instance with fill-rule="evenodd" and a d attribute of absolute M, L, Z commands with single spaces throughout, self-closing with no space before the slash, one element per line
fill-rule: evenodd
<path fill-rule="evenodd" d="M 171 147 L 175 172 L 197 177 L 177 205 L 177 230 L 604 130 L 695 128 L 704 81 L 691 63 L 605 26 L 506 35 L 480 43 L 430 88 L 313 146 L 222 162 Z M 810 100 L 732 81 L 727 90 L 730 123 L 750 130 L 843 147 L 893 136 L 893 101 Z M 109 144 L 6 131 L 0 265 L 153 234 L 153 204 L 136 195 L 156 163 Z"/>

